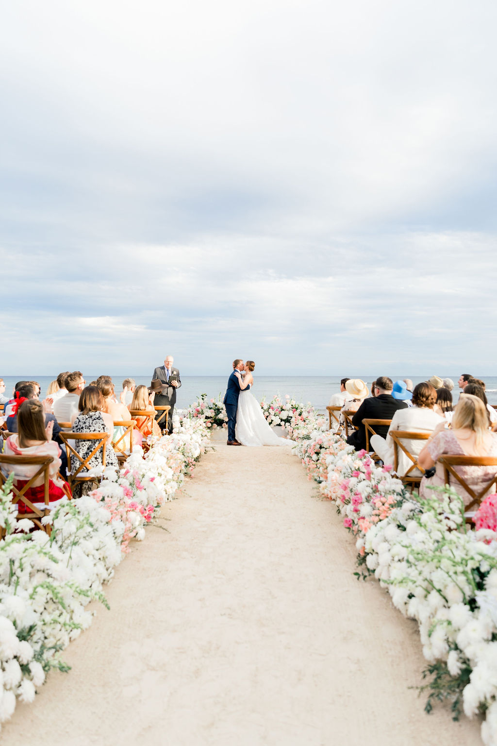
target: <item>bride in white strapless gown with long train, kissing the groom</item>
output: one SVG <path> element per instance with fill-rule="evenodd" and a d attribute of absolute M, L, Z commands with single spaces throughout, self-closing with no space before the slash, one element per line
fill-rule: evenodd
<path fill-rule="evenodd" d="M 235 370 L 235 375 L 240 378 L 241 392 L 238 396 L 238 409 L 236 410 L 236 439 L 241 445 L 294 445 L 291 440 L 279 438 L 273 433 L 265 416 L 262 414 L 259 401 L 253 396 L 247 387 L 253 384 L 253 369 L 256 364 L 253 360 L 247 360 L 244 365 L 245 376 L 241 380 L 241 374 Z"/>

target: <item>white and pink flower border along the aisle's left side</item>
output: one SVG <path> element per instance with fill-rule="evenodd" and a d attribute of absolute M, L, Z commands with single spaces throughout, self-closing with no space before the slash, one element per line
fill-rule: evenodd
<path fill-rule="evenodd" d="M 101 473 L 90 495 L 64 499 L 46 518 L 51 535 L 17 518 L 10 484 L 0 490 L 0 724 L 16 699 L 31 702 L 51 668 L 68 670 L 59 653 L 89 627 L 86 605 L 98 599 L 131 539 L 171 500 L 209 442 L 202 421 L 183 423 L 145 454 L 133 452 L 117 474 Z"/>

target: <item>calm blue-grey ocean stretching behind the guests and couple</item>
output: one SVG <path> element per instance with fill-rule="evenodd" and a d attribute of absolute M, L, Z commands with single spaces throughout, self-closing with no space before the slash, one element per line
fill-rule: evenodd
<path fill-rule="evenodd" d="M 89 383 L 91 380 L 95 380 L 99 374 L 87 374 L 84 373 L 86 382 Z M 405 375 L 405 374 L 404 374 Z M 431 375 L 431 374 L 430 374 Z M 458 401 L 459 389 L 458 380 L 460 374 L 452 374 L 449 376 L 440 376 L 444 378 L 452 378 L 455 383 L 455 389 L 452 391 L 454 402 Z M 122 390 L 122 382 L 124 378 L 134 378 L 136 384 L 143 383 L 145 386 L 150 386 L 150 378 L 142 375 L 113 375 L 113 382 L 115 383 L 116 392 Z M 371 376 L 358 376 L 361 377 L 367 383 L 370 388 L 373 377 Z M 402 380 L 403 376 L 392 376 L 393 380 L 398 378 Z M 428 376 L 430 377 L 430 376 Z M 303 401 L 305 404 L 309 401 L 314 404 L 314 407 L 319 412 L 324 413 L 326 411 L 326 404 L 329 402 L 329 398 L 332 394 L 340 391 L 340 378 L 337 376 L 259 376 L 255 377 L 253 395 L 256 398 L 261 399 L 263 396 L 266 398 L 273 398 L 275 394 L 281 394 L 285 396 L 288 394 L 297 399 L 297 401 Z M 487 398 L 490 404 L 497 405 L 497 377 L 486 376 L 483 380 L 487 384 Z M 182 376 L 182 386 L 177 392 L 177 408 L 182 409 L 188 407 L 199 394 L 205 393 L 207 397 L 215 398 L 218 394 L 224 395 L 227 384 L 226 376 Z M 5 394 L 10 395 L 18 380 L 37 380 L 42 389 L 42 398 L 45 396 L 45 392 L 48 389 L 48 384 L 51 383 L 53 378 L 51 376 L 36 376 L 34 374 L 24 374 L 17 376 L 4 376 L 4 382 L 6 385 Z M 422 380 L 427 378 L 412 376 L 411 380 L 414 385 L 420 383 Z"/>

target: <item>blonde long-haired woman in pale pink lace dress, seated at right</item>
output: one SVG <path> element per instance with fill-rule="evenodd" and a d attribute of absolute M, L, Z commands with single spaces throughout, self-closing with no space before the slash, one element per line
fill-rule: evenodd
<path fill-rule="evenodd" d="M 440 431 L 439 431 L 440 428 Z M 418 463 L 424 469 L 435 466 L 433 477 L 422 477 L 420 497 L 436 496 L 428 489 L 429 486 L 443 486 L 445 478 L 443 467 L 437 459 L 443 454 L 451 456 L 497 456 L 497 435 L 488 429 L 488 415 L 483 402 L 471 394 L 461 396 L 454 410 L 452 427 L 445 429 L 445 424 L 439 425 L 418 458 Z M 496 473 L 495 466 L 456 466 L 455 471 L 468 483 L 471 489 L 479 492 L 485 481 L 490 480 Z M 472 497 L 463 489 L 457 480 L 451 480 L 451 486 L 463 498 L 467 505 Z M 489 490 L 495 492 L 495 486 Z"/>

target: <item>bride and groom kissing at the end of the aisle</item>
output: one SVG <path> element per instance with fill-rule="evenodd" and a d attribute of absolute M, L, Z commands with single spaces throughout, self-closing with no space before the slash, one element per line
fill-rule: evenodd
<path fill-rule="evenodd" d="M 228 417 L 227 445 L 294 445 L 291 440 L 279 438 L 271 430 L 262 413 L 261 405 L 250 389 L 253 388 L 253 370 L 256 363 L 239 358 L 233 360 L 233 372 L 228 378 L 224 407 Z"/>

